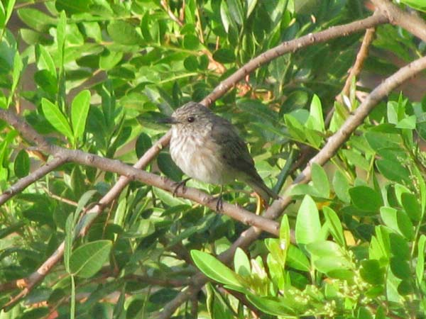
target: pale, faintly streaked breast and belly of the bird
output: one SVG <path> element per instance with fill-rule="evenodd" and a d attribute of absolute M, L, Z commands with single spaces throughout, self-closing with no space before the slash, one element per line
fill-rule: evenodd
<path fill-rule="evenodd" d="M 172 130 L 170 155 L 182 172 L 194 179 L 210 184 L 226 184 L 234 180 L 233 172 L 223 162 L 220 147 L 208 134 Z"/>

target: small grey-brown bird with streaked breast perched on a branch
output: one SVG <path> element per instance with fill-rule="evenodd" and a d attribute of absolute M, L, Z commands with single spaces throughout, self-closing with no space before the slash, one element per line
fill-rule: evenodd
<path fill-rule="evenodd" d="M 170 155 L 187 176 L 222 187 L 238 179 L 266 202 L 278 197 L 263 183 L 246 143 L 225 118 L 200 103 L 189 102 L 162 122 L 172 124 Z M 222 208 L 221 195 L 218 211 Z"/>

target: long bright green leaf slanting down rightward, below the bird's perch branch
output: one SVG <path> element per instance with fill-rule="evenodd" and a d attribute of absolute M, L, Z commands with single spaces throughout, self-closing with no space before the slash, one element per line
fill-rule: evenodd
<path fill-rule="evenodd" d="M 200 250 L 191 250 L 191 257 L 195 265 L 209 278 L 221 284 L 244 289 L 239 276 L 211 254 L 200 252 Z"/>

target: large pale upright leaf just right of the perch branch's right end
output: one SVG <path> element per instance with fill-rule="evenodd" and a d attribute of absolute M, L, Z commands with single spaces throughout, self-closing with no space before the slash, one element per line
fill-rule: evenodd
<path fill-rule="evenodd" d="M 321 233 L 320 214 L 318 213 L 315 201 L 308 195 L 303 198 L 297 212 L 296 219 L 296 242 L 306 245 L 315 242 Z"/>

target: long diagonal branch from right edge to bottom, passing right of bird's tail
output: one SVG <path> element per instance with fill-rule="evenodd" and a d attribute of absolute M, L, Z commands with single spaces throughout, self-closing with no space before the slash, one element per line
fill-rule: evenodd
<path fill-rule="evenodd" d="M 326 145 L 322 147 L 322 150 L 320 150 L 320 152 L 318 152 L 318 154 L 310 160 L 307 167 L 302 171 L 299 177 L 297 177 L 293 185 L 290 186 L 288 192 L 290 192 L 296 184 L 307 183 L 310 181 L 312 164 L 316 163 L 322 165 L 331 159 L 334 153 L 337 152 L 344 142 L 346 142 L 351 133 L 353 133 L 354 130 L 364 121 L 366 116 L 368 116 L 368 113 L 378 104 L 379 101 L 381 101 L 381 99 L 391 93 L 391 91 L 397 88 L 400 84 L 410 79 L 410 77 L 413 77 L 415 74 L 422 71 L 422 69 L 426 69 L 426 57 L 415 60 L 409 65 L 399 69 L 398 72 L 392 74 L 391 77 L 388 77 L 384 82 L 382 82 L 382 84 L 377 86 L 376 89 L 371 91 L 368 97 L 361 103 L 359 108 L 356 109 L 354 115 L 346 119 L 342 128 L 334 133 L 334 135 L 329 138 Z M 274 201 L 263 216 L 271 219 L 278 218 L 291 201 L 291 196 L 284 196 L 283 198 Z M 251 245 L 251 243 L 256 240 L 260 234 L 261 230 L 256 227 L 251 227 L 248 230 L 245 230 L 228 250 L 219 254 L 218 259 L 225 264 L 228 264 L 231 262 L 237 247 L 241 247 L 243 249 L 249 247 L 249 245 Z M 187 301 L 187 298 L 189 298 L 192 293 L 201 289 L 207 281 L 207 277 L 200 272 L 192 276 L 192 285 L 185 291 L 179 293 L 178 296 L 165 305 L 161 313 L 158 313 L 155 318 L 170 318 L 175 310 L 178 309 L 182 303 Z"/>

